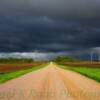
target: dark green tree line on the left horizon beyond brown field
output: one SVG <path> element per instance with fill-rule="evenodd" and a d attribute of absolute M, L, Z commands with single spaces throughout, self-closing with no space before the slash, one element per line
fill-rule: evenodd
<path fill-rule="evenodd" d="M 0 63 L 31 63 L 31 58 L 0 58 Z"/>

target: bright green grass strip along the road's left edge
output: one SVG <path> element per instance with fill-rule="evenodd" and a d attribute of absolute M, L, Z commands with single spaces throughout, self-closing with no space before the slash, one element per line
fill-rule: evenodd
<path fill-rule="evenodd" d="M 40 66 L 36 66 L 36 67 L 30 68 L 30 69 L 23 69 L 23 70 L 18 70 L 18 71 L 0 73 L 0 84 L 6 82 L 8 80 L 17 78 L 17 77 L 19 77 L 21 75 L 24 75 L 26 73 L 29 73 L 29 72 L 32 72 L 32 71 L 36 71 L 36 70 L 38 70 L 40 68 L 45 67 L 46 65 L 47 64 L 42 64 Z"/>

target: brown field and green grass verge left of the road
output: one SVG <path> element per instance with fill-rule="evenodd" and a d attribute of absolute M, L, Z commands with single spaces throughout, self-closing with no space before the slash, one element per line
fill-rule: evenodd
<path fill-rule="evenodd" d="M 0 84 L 46 66 L 46 62 L 1 64 Z"/>

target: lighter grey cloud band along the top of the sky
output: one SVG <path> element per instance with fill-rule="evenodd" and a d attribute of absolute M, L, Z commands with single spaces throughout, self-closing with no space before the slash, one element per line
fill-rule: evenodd
<path fill-rule="evenodd" d="M 1 15 L 100 17 L 100 0 L 0 0 Z"/>

